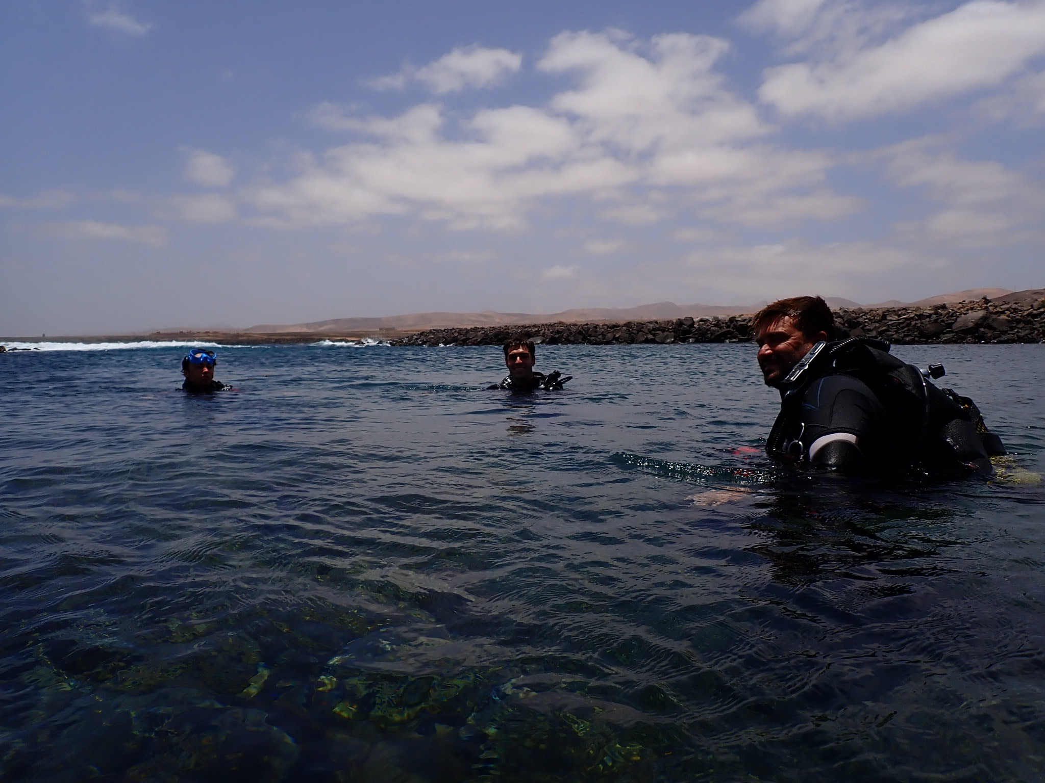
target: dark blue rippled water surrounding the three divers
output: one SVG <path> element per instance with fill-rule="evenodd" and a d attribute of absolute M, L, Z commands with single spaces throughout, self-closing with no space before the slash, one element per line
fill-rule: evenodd
<path fill-rule="evenodd" d="M 218 350 L 0 356 L 3 779 L 1045 778 L 1041 484 L 773 481 L 750 346 Z M 1045 347 L 896 352 L 1045 470 Z"/>

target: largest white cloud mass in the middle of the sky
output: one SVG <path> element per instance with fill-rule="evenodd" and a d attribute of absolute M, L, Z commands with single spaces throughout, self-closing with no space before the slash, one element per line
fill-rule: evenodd
<path fill-rule="evenodd" d="M 753 224 L 847 214 L 856 201 L 825 185 L 830 156 L 762 141 L 772 128 L 715 71 L 727 48 L 684 33 L 643 42 L 568 32 L 551 41 L 537 68 L 573 86 L 543 105 L 458 117 L 420 103 L 367 118 L 324 103 L 316 122 L 365 140 L 299 156 L 296 173 L 254 186 L 249 198 L 268 213 L 261 220 L 287 227 L 413 214 L 454 229 L 515 231 L 565 196 L 612 201 L 604 218 L 632 224 L 679 205 Z"/>

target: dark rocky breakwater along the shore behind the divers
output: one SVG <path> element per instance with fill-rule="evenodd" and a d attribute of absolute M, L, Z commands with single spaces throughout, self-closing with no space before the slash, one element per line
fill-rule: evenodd
<path fill-rule="evenodd" d="M 835 311 L 839 330 L 898 345 L 927 342 L 1045 342 L 1045 300 L 959 302 L 932 307 L 853 308 Z M 394 346 L 500 346 L 517 334 L 544 345 L 608 346 L 659 342 L 749 342 L 750 315 L 629 321 L 621 324 L 431 329 L 392 340 Z"/>

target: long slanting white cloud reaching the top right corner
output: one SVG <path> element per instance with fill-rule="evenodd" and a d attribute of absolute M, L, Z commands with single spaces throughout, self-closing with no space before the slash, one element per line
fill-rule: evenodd
<path fill-rule="evenodd" d="M 884 43 L 769 69 L 759 95 L 786 115 L 840 121 L 995 87 L 1043 53 L 1045 2 L 973 0 Z"/>

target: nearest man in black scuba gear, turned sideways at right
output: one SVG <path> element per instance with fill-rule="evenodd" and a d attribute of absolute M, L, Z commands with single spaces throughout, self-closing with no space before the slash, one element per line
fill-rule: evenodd
<path fill-rule="evenodd" d="M 773 302 L 752 327 L 766 385 L 781 393 L 770 457 L 850 475 L 952 478 L 990 475 L 990 457 L 1005 453 L 972 400 L 929 382 L 943 365 L 906 364 L 883 340 L 834 339 L 819 296 Z"/>

